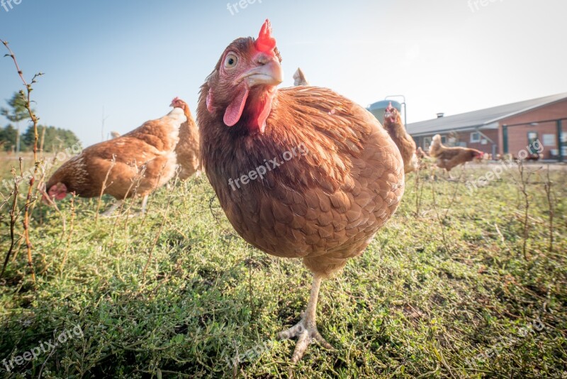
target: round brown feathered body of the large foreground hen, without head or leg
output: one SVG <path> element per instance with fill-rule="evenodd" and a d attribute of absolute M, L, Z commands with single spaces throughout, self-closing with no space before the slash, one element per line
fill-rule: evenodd
<path fill-rule="evenodd" d="M 388 133 L 365 109 L 315 87 L 280 90 L 267 124 L 264 135 L 225 138 L 202 150 L 232 225 L 276 256 L 324 255 L 327 264 L 361 253 L 403 194 L 403 161 Z M 282 159 L 300 145 L 308 153 Z M 277 167 L 269 163 L 274 158 Z M 263 179 L 231 189 L 229 178 L 266 162 L 271 170 Z"/>

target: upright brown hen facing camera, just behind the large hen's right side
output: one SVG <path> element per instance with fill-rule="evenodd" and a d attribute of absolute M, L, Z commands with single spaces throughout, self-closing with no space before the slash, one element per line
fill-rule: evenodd
<path fill-rule="evenodd" d="M 403 158 L 403 170 L 406 174 L 419 168 L 417 155 L 415 155 L 415 141 L 405 130 L 402 117 L 398 109 L 388 105 L 384 112 L 384 128 L 388 131 L 395 145 L 398 146 Z"/>

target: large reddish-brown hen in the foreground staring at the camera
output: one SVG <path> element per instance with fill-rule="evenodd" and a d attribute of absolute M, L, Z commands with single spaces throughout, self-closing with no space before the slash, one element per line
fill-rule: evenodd
<path fill-rule="evenodd" d="M 318 341 L 323 278 L 364 248 L 400 204 L 403 160 L 366 109 L 330 89 L 291 87 L 266 20 L 225 49 L 201 87 L 201 161 L 228 220 L 265 253 L 303 258 L 313 273 L 292 362 Z"/>

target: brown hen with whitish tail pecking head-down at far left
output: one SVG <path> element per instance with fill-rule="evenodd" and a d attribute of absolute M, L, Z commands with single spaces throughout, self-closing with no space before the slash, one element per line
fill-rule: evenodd
<path fill-rule="evenodd" d="M 177 100 L 177 101 L 176 101 Z M 145 212 L 150 192 L 162 187 L 176 172 L 175 146 L 179 128 L 187 121 L 181 102 L 161 119 L 147 121 L 139 128 L 110 141 L 97 143 L 64 163 L 47 181 L 47 196 L 61 200 L 74 192 L 79 197 L 99 197 L 106 175 L 105 194 L 118 202 L 104 215 L 108 216 L 125 198 L 143 197 Z M 46 196 L 44 194 L 44 200 Z"/>

